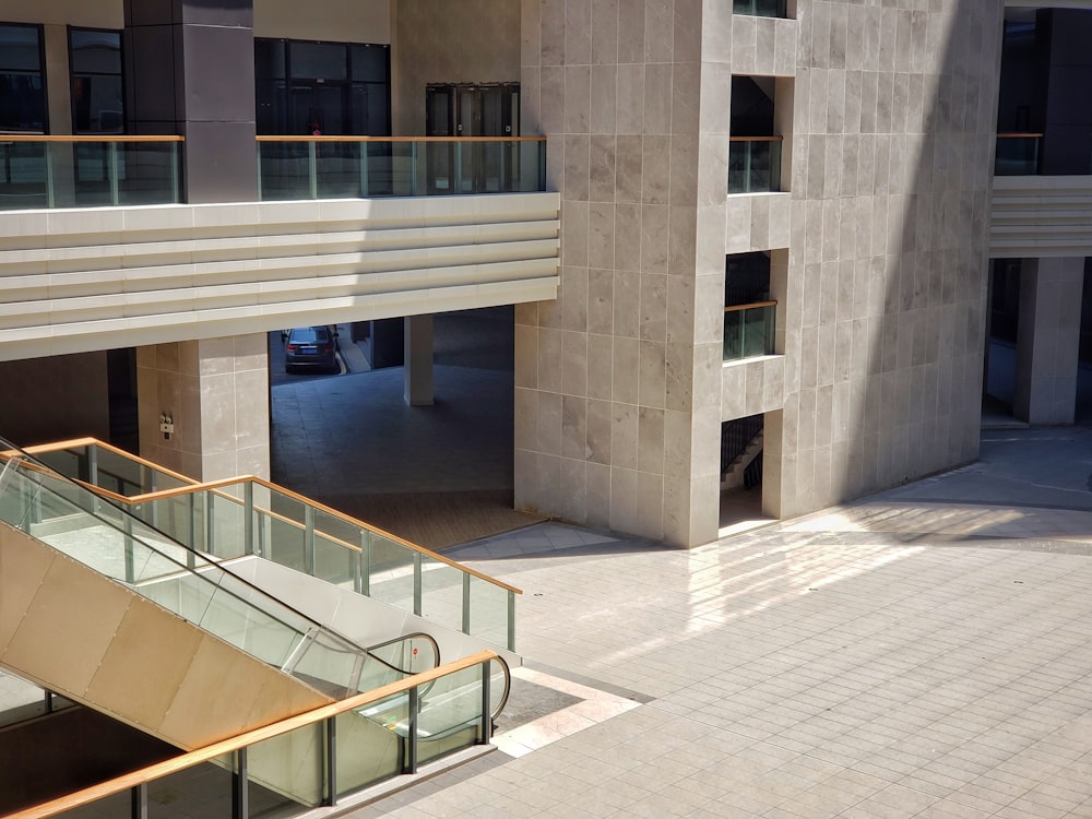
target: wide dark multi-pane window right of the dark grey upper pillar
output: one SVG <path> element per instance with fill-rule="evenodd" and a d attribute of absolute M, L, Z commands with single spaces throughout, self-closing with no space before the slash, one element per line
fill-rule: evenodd
<path fill-rule="evenodd" d="M 258 133 L 389 136 L 390 47 L 254 39 Z"/>

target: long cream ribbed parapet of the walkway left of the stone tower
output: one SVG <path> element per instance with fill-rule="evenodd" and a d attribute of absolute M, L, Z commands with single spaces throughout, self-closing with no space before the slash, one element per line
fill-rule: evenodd
<path fill-rule="evenodd" d="M 0 360 L 557 297 L 556 193 L 0 214 Z"/>

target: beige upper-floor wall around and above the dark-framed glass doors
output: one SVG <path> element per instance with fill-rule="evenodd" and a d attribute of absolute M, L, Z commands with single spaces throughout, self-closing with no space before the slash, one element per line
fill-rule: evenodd
<path fill-rule="evenodd" d="M 392 35 L 395 135 L 425 133 L 429 83 L 520 81 L 520 0 L 396 0 Z"/>

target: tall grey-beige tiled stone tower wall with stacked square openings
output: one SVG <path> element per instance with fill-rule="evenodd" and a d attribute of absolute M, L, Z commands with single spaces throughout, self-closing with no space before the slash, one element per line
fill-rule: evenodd
<path fill-rule="evenodd" d="M 720 424 L 752 411 L 778 517 L 976 456 L 1002 3 L 795 5 L 524 0 L 562 266 L 517 312 L 518 506 L 712 539 Z M 785 194 L 726 193 L 733 74 L 779 78 Z M 724 365 L 751 249 L 781 251 L 784 358 Z"/>

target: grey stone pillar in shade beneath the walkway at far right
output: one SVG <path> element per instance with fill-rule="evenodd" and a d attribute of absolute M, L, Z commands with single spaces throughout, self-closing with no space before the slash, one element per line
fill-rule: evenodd
<path fill-rule="evenodd" d="M 1025 259 L 1013 414 L 1030 424 L 1072 424 L 1084 259 Z"/>

